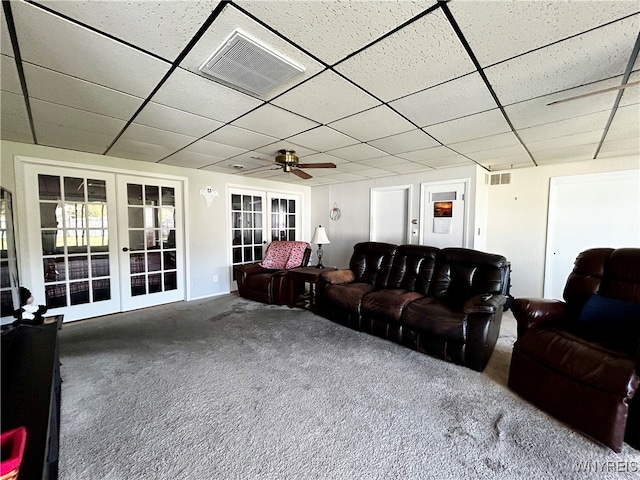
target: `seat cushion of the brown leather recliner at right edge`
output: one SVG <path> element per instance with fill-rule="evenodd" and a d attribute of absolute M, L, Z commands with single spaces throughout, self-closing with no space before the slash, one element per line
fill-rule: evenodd
<path fill-rule="evenodd" d="M 565 330 L 531 330 L 516 343 L 518 351 L 559 375 L 623 397 L 638 388 L 635 361 Z"/>

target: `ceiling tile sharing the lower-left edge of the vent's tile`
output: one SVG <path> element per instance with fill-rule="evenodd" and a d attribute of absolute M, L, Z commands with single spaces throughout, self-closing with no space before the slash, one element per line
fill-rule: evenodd
<path fill-rule="evenodd" d="M 263 103 L 182 69 L 173 72 L 152 100 L 220 122 L 230 122 Z"/>

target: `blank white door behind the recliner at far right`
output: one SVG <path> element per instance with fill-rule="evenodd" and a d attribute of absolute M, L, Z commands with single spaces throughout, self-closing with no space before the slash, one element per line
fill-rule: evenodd
<path fill-rule="evenodd" d="M 580 252 L 640 247 L 640 171 L 551 179 L 545 298 L 562 298 Z"/>

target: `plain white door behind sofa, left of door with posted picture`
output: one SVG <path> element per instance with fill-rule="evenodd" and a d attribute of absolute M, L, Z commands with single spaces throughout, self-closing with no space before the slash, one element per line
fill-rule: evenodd
<path fill-rule="evenodd" d="M 411 186 L 371 189 L 369 239 L 395 245 L 411 243 Z"/>

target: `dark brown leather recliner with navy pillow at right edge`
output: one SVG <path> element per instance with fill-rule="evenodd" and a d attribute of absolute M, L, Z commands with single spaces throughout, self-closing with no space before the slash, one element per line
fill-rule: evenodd
<path fill-rule="evenodd" d="M 640 249 L 580 253 L 563 297 L 514 300 L 509 387 L 616 452 L 640 448 Z"/>

